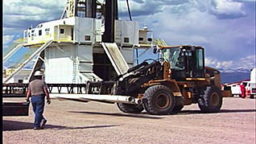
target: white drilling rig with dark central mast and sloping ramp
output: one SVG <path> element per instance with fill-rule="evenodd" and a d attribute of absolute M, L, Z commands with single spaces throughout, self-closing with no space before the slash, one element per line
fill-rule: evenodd
<path fill-rule="evenodd" d="M 39 58 L 31 79 L 35 70 L 43 68 L 50 84 L 110 80 L 134 65 L 134 51 L 147 50 L 152 44 L 151 31 L 138 29 L 138 22 L 118 19 L 117 0 L 68 0 L 60 19 L 29 27 L 23 37 L 14 49 L 23 46 L 36 51 L 3 83 L 35 56 Z"/>

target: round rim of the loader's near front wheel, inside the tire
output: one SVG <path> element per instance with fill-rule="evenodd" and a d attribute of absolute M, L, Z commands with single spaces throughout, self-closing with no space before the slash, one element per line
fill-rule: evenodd
<path fill-rule="evenodd" d="M 159 93 L 155 97 L 155 104 L 159 109 L 166 109 L 170 104 L 170 98 L 167 93 Z"/>

